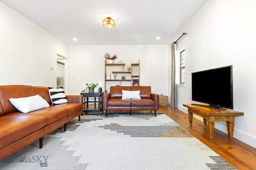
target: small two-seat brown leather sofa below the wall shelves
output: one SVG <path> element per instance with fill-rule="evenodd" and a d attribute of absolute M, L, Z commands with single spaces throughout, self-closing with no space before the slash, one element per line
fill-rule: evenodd
<path fill-rule="evenodd" d="M 122 90 L 140 91 L 141 99 L 122 99 Z M 159 95 L 151 93 L 151 86 L 111 86 L 110 93 L 103 95 L 103 110 L 106 111 L 132 111 L 159 110 Z"/>

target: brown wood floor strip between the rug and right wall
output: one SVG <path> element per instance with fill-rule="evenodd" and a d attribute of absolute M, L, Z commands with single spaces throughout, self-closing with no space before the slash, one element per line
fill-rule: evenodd
<path fill-rule="evenodd" d="M 188 114 L 170 106 L 160 106 L 157 113 L 164 113 L 192 136 L 196 137 L 210 149 L 238 170 L 256 170 L 256 149 L 235 138 L 229 139 L 226 133 L 214 129 L 214 139 L 209 138 L 207 126 L 202 121 L 193 118 L 193 125 L 189 125 Z M 236 123 L 236 122 L 235 122 Z M 236 125 L 235 125 L 236 126 Z"/>

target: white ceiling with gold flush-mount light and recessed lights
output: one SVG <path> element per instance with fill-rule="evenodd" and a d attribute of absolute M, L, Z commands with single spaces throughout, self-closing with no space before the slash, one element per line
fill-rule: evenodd
<path fill-rule="evenodd" d="M 0 1 L 68 45 L 162 45 L 207 0 Z M 114 29 L 102 26 L 106 17 L 116 21 Z"/>

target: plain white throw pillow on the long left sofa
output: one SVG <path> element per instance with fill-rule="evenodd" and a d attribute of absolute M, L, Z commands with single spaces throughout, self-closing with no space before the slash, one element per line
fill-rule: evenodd
<path fill-rule="evenodd" d="M 10 102 L 22 113 L 49 107 L 50 105 L 41 96 L 30 96 L 26 98 L 10 98 Z"/>

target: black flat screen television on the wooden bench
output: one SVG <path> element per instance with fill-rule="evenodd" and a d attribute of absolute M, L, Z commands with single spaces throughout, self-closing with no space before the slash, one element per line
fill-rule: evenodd
<path fill-rule="evenodd" d="M 193 72 L 192 100 L 209 104 L 217 111 L 233 109 L 232 72 L 232 65 Z"/>

